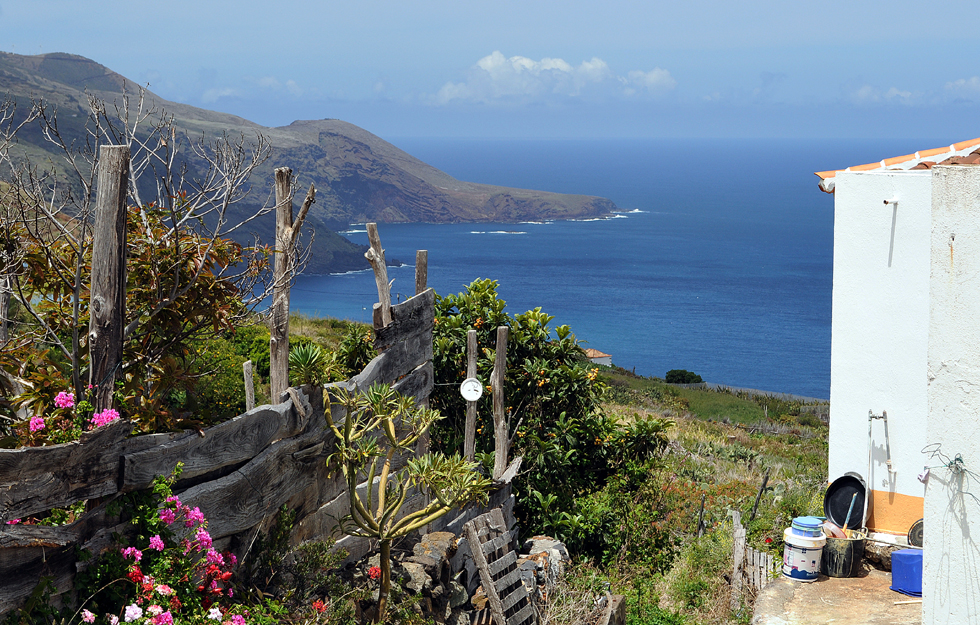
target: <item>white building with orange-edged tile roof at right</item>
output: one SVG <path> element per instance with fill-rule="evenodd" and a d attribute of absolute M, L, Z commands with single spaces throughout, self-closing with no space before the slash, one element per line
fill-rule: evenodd
<path fill-rule="evenodd" d="M 924 517 L 923 623 L 980 614 L 977 163 L 980 139 L 817 174 L 835 195 L 829 478 L 864 478 L 873 530 Z"/>

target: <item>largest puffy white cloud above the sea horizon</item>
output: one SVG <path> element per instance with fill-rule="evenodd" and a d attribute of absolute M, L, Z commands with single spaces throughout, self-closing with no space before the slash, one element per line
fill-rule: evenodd
<path fill-rule="evenodd" d="M 525 56 L 505 57 L 494 51 L 470 68 L 466 79 L 447 82 L 436 94 L 438 104 L 468 102 L 531 102 L 586 95 L 631 96 L 639 92 L 660 93 L 673 89 L 677 82 L 664 69 L 649 72 L 631 71 L 616 76 L 609 65 L 592 57 L 578 65 L 560 58 L 540 61 Z"/>

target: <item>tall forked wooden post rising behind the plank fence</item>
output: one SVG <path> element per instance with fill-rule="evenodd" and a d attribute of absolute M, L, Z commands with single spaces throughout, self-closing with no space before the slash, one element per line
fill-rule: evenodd
<path fill-rule="evenodd" d="M 269 394 L 274 404 L 282 401 L 282 394 L 289 388 L 289 287 L 296 268 L 296 240 L 306 213 L 316 202 L 316 188 L 310 184 L 293 221 L 293 170 L 279 167 L 275 175 L 276 264 L 269 311 Z"/>

